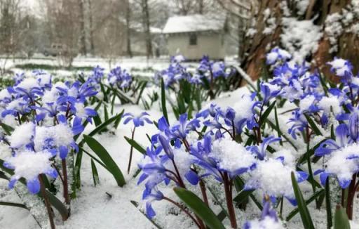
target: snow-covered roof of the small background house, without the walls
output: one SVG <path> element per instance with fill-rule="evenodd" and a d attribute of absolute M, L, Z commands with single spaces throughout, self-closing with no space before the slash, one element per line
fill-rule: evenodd
<path fill-rule="evenodd" d="M 225 17 L 222 15 L 186 15 L 168 18 L 164 34 L 199 32 L 208 30 L 222 30 L 224 28 Z"/>

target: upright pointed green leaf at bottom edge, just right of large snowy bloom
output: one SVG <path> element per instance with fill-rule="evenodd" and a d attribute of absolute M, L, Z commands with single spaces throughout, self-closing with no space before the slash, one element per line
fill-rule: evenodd
<path fill-rule="evenodd" d="M 304 228 L 315 229 L 313 225 L 313 221 L 311 220 L 311 214 L 309 213 L 309 210 L 306 207 L 306 202 L 304 201 L 302 192 L 299 189 L 299 185 L 297 183 L 297 179 L 294 176 L 294 172 L 292 172 L 291 176 L 292 176 L 294 195 L 295 195 L 295 199 L 297 199 L 299 214 L 300 217 L 302 218 L 302 223 L 304 225 Z"/>

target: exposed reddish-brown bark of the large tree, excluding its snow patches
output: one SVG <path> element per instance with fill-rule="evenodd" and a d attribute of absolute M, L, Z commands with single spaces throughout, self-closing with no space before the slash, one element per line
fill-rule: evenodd
<path fill-rule="evenodd" d="M 275 46 L 281 46 L 280 34 L 283 32 L 281 27 L 281 21 L 284 17 L 283 10 L 280 8 L 280 0 L 262 0 L 259 1 L 259 9 L 257 12 L 256 25 L 254 27 L 257 33 L 252 39 L 245 39 L 245 58 L 241 63 L 247 73 L 252 79 L 258 79 L 265 65 L 265 54 Z M 354 72 L 358 71 L 359 63 L 359 36 L 353 34 L 353 32 L 347 32 L 348 28 L 356 24 L 358 26 L 359 19 L 355 17 L 353 22 L 344 25 L 343 18 L 339 20 L 343 29 L 341 34 L 338 34 L 334 41 L 337 44 L 330 44 L 329 35 L 325 31 L 326 20 L 329 15 L 333 13 L 341 13 L 344 8 L 348 8 L 348 4 L 351 0 L 310 0 L 309 5 L 303 15 L 299 15 L 294 1 L 287 0 L 287 6 L 290 11 L 290 15 L 287 17 L 297 18 L 297 20 L 312 20 L 314 25 L 320 26 L 323 31 L 323 36 L 318 41 L 318 48 L 315 53 L 310 53 L 306 56 L 307 61 L 313 61 L 325 76 L 329 76 L 333 81 L 337 81 L 337 78 L 330 73 L 330 68 L 327 66 L 327 62 L 332 60 L 334 56 L 348 59 L 354 65 Z M 269 8 L 271 17 L 276 18 L 276 29 L 271 34 L 264 34 L 263 31 L 266 27 L 266 18 L 264 18 L 264 11 Z M 346 12 L 348 13 L 348 12 Z M 345 14 L 346 14 L 345 13 Z M 345 16 L 345 15 L 344 15 Z M 330 51 L 330 48 L 337 45 L 337 51 Z M 282 47 L 285 48 L 285 47 Z"/>

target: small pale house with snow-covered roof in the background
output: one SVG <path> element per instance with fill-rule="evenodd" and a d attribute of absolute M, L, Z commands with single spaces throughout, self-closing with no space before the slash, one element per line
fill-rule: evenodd
<path fill-rule="evenodd" d="M 226 18 L 218 15 L 168 18 L 163 28 L 168 54 L 180 53 L 189 60 L 199 60 L 203 55 L 209 55 L 211 59 L 224 59 L 225 25 Z"/>

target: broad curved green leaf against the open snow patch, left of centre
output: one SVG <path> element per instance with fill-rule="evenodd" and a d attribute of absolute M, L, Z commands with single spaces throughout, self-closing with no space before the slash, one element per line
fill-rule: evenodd
<path fill-rule="evenodd" d="M 87 143 L 87 145 L 95 152 L 95 154 L 100 157 L 101 161 L 106 165 L 107 169 L 114 176 L 117 185 L 123 187 L 126 184 L 125 178 L 123 178 L 123 174 L 121 169 L 118 168 L 114 159 L 109 155 L 107 150 L 93 137 L 88 135 L 83 135 L 83 139 Z"/>

